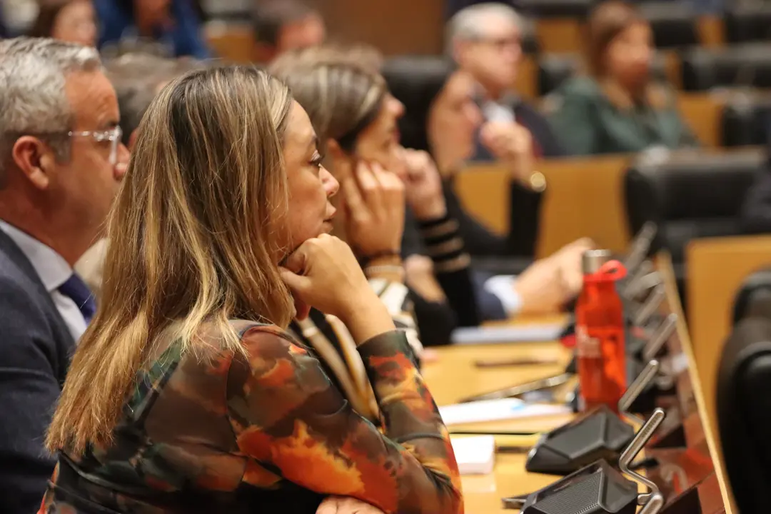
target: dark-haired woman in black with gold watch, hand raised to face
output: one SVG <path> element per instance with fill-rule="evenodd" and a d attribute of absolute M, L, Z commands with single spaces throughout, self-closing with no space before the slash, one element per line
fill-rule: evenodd
<path fill-rule="evenodd" d="M 416 66 L 421 69 L 415 69 Z M 507 133 L 487 133 L 482 129 L 481 139 L 500 153 L 500 160 L 507 160 L 511 168 L 510 230 L 506 237 L 500 237 L 466 213 L 453 190 L 453 176 L 473 156 L 476 131 L 483 124 L 482 113 L 474 101 L 473 78 L 456 71 L 452 62 L 436 59 L 392 59 L 383 75 L 394 96 L 406 107 L 407 114 L 399 121 L 405 144 L 431 153 L 445 178 L 445 197 L 453 217 L 460 222 L 460 233 L 469 253 L 534 257 L 538 212 L 546 183 L 540 173 L 533 173 L 534 157 L 527 129 Z M 414 80 L 416 76 L 420 79 Z"/>

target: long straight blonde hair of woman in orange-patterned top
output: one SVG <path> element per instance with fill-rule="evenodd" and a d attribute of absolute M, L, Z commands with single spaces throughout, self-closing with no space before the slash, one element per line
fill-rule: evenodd
<path fill-rule="evenodd" d="M 103 297 L 49 428 L 51 451 L 107 445 L 160 334 L 194 349 L 203 324 L 242 351 L 229 319 L 285 327 L 278 273 L 288 89 L 229 66 L 187 73 L 153 101 L 109 217 Z"/>

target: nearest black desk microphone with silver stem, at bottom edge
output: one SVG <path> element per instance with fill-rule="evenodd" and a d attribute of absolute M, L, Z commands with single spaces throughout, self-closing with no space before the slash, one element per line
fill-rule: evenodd
<path fill-rule="evenodd" d="M 619 469 L 604 460 L 592 462 L 525 498 L 504 498 L 503 508 L 520 509 L 521 514 L 635 514 L 638 506 L 642 506 L 638 514 L 657 514 L 664 506 L 664 496 L 654 482 L 629 466 L 664 418 L 664 411 L 655 409 L 621 452 Z M 638 495 L 637 482 L 646 485 L 650 492 Z"/>

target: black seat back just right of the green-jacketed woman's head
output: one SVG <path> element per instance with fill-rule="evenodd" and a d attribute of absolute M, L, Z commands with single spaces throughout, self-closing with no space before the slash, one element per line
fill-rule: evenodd
<path fill-rule="evenodd" d="M 639 7 L 651 23 L 656 48 L 699 44 L 696 14 L 688 2 L 644 2 Z"/>

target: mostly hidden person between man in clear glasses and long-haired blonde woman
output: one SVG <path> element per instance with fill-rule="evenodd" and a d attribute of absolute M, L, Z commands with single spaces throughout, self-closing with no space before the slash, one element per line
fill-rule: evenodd
<path fill-rule="evenodd" d="M 187 59 L 165 59 L 150 54 L 126 54 L 106 63 L 120 106 L 123 144 L 133 149 L 140 121 L 150 102 L 170 80 L 203 66 Z M 75 269 L 93 292 L 96 301 L 102 291 L 102 268 L 107 240 L 100 239 L 78 260 Z"/>

